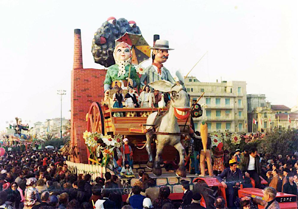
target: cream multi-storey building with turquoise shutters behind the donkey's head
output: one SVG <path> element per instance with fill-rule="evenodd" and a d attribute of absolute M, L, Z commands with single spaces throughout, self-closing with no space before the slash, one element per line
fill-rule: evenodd
<path fill-rule="evenodd" d="M 199 130 L 204 120 L 208 125 L 208 132 L 220 131 L 244 133 L 247 131 L 247 99 L 245 81 L 222 81 L 214 83 L 199 82 L 194 76 L 184 80 L 191 101 L 197 100 L 202 106 L 203 115 L 193 118 L 195 130 Z"/>

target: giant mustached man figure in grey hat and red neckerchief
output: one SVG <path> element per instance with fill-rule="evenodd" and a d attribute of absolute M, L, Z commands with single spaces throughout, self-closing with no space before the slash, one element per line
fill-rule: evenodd
<path fill-rule="evenodd" d="M 141 76 L 141 88 L 145 85 L 144 82 L 146 82 L 147 85 L 159 80 L 167 80 L 172 83 L 176 82 L 171 76 L 169 70 L 167 70 L 167 68 L 165 68 L 162 64 L 169 58 L 169 50 L 173 49 L 169 48 L 168 41 L 159 39 L 158 35 L 154 35 L 154 42 L 153 47 L 150 47 L 150 49 L 152 49 L 152 65 L 149 65 L 144 70 L 144 74 Z M 152 91 L 151 87 L 150 89 Z"/>

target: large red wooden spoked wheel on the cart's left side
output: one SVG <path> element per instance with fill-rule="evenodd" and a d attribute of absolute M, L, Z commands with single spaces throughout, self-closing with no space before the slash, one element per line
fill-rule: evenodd
<path fill-rule="evenodd" d="M 101 105 L 98 102 L 93 102 L 89 109 L 87 131 L 90 131 L 91 133 L 97 132 L 103 135 L 105 134 L 103 111 L 102 111 Z M 92 148 L 92 152 L 96 153 L 96 147 Z M 90 152 L 88 149 L 87 149 L 87 156 L 88 158 L 92 158 L 90 157 L 92 155 L 90 155 Z M 90 164 L 89 160 L 88 160 L 88 163 Z"/>

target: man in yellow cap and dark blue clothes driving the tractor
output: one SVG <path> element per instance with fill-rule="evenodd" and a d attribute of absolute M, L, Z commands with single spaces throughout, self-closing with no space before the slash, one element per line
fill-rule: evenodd
<path fill-rule="evenodd" d="M 235 208 L 235 200 L 237 196 L 238 186 L 240 182 L 243 181 L 242 172 L 237 168 L 237 162 L 233 158 L 229 161 L 230 167 L 224 169 L 224 171 L 219 174 L 216 179 L 221 182 L 222 186 L 226 189 L 226 197 L 228 202 L 228 208 Z M 224 182 L 223 178 L 226 178 Z M 236 186 L 236 187 L 235 187 Z"/>

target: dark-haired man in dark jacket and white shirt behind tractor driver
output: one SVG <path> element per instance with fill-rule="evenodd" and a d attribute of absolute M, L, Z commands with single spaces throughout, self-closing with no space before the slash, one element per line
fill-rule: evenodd
<path fill-rule="evenodd" d="M 252 178 L 255 182 L 256 188 L 262 188 L 261 185 L 261 165 L 260 165 L 260 157 L 257 155 L 257 149 L 252 147 L 249 153 L 245 154 L 241 159 L 239 164 L 239 168 L 244 173 L 246 178 Z"/>

